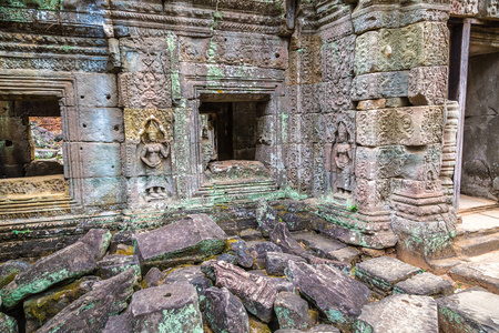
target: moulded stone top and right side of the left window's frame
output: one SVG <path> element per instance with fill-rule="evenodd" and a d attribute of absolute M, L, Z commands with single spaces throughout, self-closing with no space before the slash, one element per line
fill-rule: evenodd
<path fill-rule="evenodd" d="M 72 208 L 81 206 L 83 202 L 81 176 L 81 159 L 72 151 L 69 141 L 78 137 L 78 119 L 75 117 L 74 78 L 71 74 L 43 75 L 39 72 L 3 70 L 0 73 L 0 95 L 11 100 L 26 98 L 55 98 L 61 111 L 64 178 L 69 181 Z M 71 162 L 70 162 L 71 161 Z"/>

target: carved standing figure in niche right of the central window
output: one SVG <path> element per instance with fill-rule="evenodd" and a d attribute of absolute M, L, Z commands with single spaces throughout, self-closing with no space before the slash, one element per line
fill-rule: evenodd
<path fill-rule="evenodd" d="M 336 143 L 333 147 L 333 170 L 336 171 L 335 189 L 337 192 L 345 193 L 352 191 L 352 144 L 348 143 L 348 130 L 346 124 L 340 121 L 336 135 Z"/>

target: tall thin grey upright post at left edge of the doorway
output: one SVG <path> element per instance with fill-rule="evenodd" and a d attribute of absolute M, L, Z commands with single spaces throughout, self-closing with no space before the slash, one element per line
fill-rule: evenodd
<path fill-rule="evenodd" d="M 456 167 L 454 171 L 454 206 L 459 210 L 462 173 L 462 140 L 465 135 L 466 87 L 468 81 L 469 40 L 471 20 L 452 27 L 449 61 L 449 100 L 459 102 Z"/>

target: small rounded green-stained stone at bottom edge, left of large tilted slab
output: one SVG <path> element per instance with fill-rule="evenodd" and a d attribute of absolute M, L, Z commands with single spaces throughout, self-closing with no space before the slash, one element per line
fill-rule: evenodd
<path fill-rule="evenodd" d="M 274 302 L 279 329 L 307 330 L 310 326 L 308 303 L 295 293 L 281 292 Z"/>

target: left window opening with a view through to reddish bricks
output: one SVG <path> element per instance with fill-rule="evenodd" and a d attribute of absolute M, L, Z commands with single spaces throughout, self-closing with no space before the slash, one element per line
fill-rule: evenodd
<path fill-rule="evenodd" d="M 59 102 L 0 101 L 0 178 L 63 173 Z"/>

